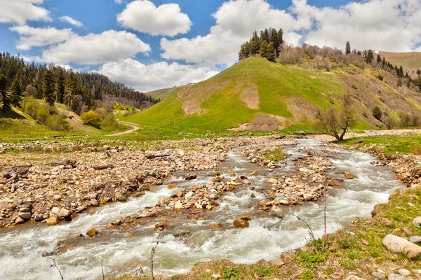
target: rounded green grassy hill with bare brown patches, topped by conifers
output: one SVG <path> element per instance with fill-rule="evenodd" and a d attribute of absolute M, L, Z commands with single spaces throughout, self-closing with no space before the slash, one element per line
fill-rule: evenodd
<path fill-rule="evenodd" d="M 384 82 L 375 78 L 379 73 Z M 142 125 L 145 131 L 166 133 L 291 126 L 312 130 L 317 109 L 338 106 L 345 92 L 356 102 L 356 129 L 382 125 L 372 116 L 374 106 L 394 118 L 397 111 L 416 113 L 421 108 L 420 94 L 396 87 L 396 77 L 385 71 L 363 71 L 352 65 L 333 71 L 304 69 L 250 57 L 124 120 Z"/>

